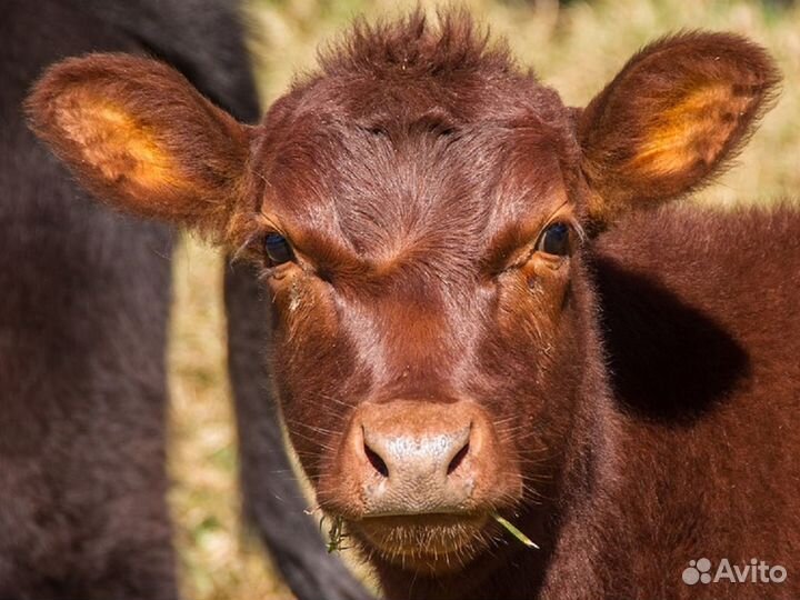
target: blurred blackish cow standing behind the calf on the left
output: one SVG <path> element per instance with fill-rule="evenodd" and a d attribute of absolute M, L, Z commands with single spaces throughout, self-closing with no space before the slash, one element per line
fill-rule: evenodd
<path fill-rule="evenodd" d="M 11 0 L 0 40 L 0 598 L 172 599 L 164 352 L 173 234 L 82 193 L 31 136 L 22 101 L 48 64 L 117 50 L 169 60 L 254 120 L 238 16 L 204 0 Z M 354 598 L 363 592 L 303 514 L 261 374 L 266 329 L 241 324 L 263 310 L 252 274 L 228 269 L 226 286 L 250 512 L 299 596 L 324 587 Z M 291 523 L 292 536 L 271 520 Z"/>

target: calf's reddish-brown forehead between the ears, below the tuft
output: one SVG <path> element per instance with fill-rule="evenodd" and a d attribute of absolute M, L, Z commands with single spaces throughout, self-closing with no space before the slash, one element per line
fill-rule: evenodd
<path fill-rule="evenodd" d="M 561 113 L 542 117 L 534 102 L 512 98 L 466 119 L 436 93 L 392 108 L 402 93 L 368 114 L 318 98 L 326 111 L 307 107 L 276 127 L 262 163 L 264 206 L 372 260 L 456 249 L 473 260 L 464 246 L 480 252 L 499 229 L 547 210 L 572 142 Z"/>

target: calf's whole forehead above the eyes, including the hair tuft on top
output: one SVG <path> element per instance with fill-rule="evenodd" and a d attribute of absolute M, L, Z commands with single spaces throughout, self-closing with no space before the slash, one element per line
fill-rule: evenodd
<path fill-rule="evenodd" d="M 459 13 L 357 26 L 262 131 L 257 201 L 297 249 L 449 281 L 498 232 L 536 229 L 578 157 L 558 94 Z"/>

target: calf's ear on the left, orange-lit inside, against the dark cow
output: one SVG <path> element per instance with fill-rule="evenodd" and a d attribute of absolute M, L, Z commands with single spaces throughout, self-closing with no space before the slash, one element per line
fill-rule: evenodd
<path fill-rule="evenodd" d="M 26 110 L 98 199 L 222 233 L 242 187 L 249 128 L 177 71 L 126 54 L 68 59 L 36 83 Z"/>

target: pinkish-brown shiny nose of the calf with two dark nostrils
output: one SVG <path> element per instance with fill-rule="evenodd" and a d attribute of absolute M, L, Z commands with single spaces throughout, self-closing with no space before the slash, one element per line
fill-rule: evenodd
<path fill-rule="evenodd" d="M 491 486 L 497 446 L 472 402 L 368 402 L 356 412 L 342 462 L 364 516 L 463 512 Z"/>

